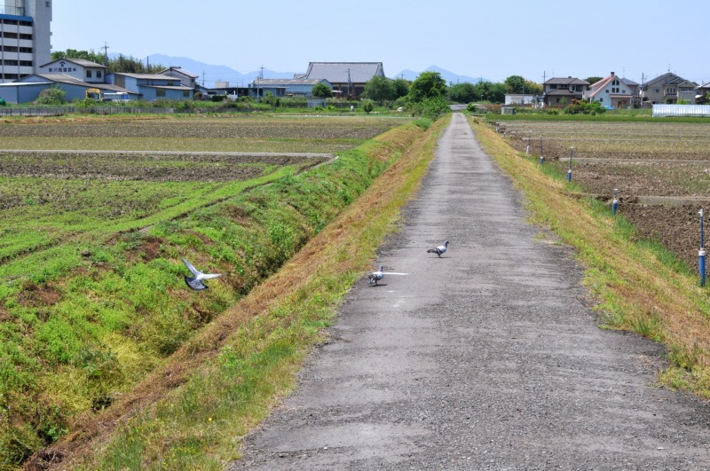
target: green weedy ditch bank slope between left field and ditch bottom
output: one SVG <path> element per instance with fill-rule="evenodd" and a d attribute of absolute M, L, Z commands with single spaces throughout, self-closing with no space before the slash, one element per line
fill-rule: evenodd
<path fill-rule="evenodd" d="M 328 165 L 240 187 L 144 230 L 119 230 L 109 239 L 102 231 L 21 257 L 24 264 L 13 264 L 0 285 L 0 466 L 19 466 L 61 437 L 91 436 L 103 412 L 158 394 L 165 385 L 138 385 L 171 358 L 199 357 L 224 339 L 228 331 L 208 327 L 212 337 L 200 334 L 422 133 L 409 123 Z M 191 292 L 181 256 L 223 276 L 208 291 Z M 161 376 L 167 386 L 185 381 L 190 367 L 171 365 L 179 372 Z"/>

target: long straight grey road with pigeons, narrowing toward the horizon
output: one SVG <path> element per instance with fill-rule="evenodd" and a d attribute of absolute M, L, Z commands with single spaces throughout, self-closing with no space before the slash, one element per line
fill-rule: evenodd
<path fill-rule="evenodd" d="M 710 406 L 653 386 L 657 344 L 598 327 L 461 114 L 405 216 L 377 264 L 408 274 L 359 282 L 232 469 L 710 468 Z"/>

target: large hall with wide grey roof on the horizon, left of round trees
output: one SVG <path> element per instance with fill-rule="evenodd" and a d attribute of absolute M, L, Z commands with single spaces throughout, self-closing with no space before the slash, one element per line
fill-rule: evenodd
<path fill-rule="evenodd" d="M 384 76 L 382 62 L 311 62 L 305 74 L 294 78 L 327 80 L 335 95 L 359 98 L 375 76 Z"/>

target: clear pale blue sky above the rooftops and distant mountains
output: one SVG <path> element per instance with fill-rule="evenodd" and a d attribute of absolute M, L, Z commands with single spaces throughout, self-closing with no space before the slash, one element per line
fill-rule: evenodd
<path fill-rule="evenodd" d="M 430 66 L 503 81 L 523 75 L 641 82 L 668 70 L 710 81 L 707 0 L 57 0 L 53 51 L 187 57 L 241 73 L 305 72 L 310 61 Z M 178 65 L 178 64 L 173 64 Z M 199 73 L 200 71 L 193 71 Z M 208 77 L 209 79 L 209 77 Z"/>

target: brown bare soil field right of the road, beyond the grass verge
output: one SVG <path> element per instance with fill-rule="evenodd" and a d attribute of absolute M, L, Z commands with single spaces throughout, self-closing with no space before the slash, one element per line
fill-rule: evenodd
<path fill-rule="evenodd" d="M 639 236 L 698 266 L 698 210 L 710 203 L 710 122 L 500 122 L 520 152 L 566 173 L 611 205 Z"/>

